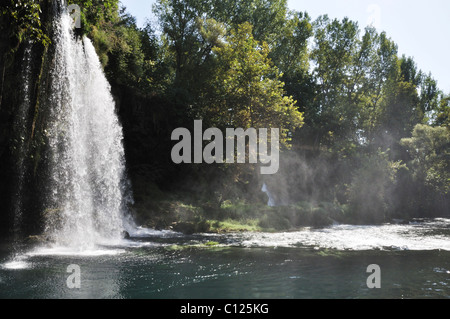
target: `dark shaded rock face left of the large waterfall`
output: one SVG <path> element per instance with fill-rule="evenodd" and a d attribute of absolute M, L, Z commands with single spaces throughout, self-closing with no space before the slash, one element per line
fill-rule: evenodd
<path fill-rule="evenodd" d="M 41 0 L 39 4 L 43 32 L 50 35 L 53 32 L 51 21 L 55 3 Z M 12 36 L 17 30 L 1 15 L 0 29 L 0 238 L 10 238 L 17 231 L 26 238 L 27 235 L 43 230 L 39 212 L 42 199 L 40 194 L 45 188 L 41 179 L 41 169 L 45 166 L 45 158 L 41 156 L 45 147 L 45 110 L 40 108 L 39 101 L 45 99 L 47 94 L 44 83 L 53 50 L 51 45 L 46 48 L 36 41 L 29 43 L 27 37 L 19 39 Z M 27 52 L 31 55 L 29 63 L 25 63 Z M 27 81 L 24 80 L 25 68 Z M 29 108 L 26 113 L 21 114 L 24 82 L 27 82 L 29 89 L 26 101 Z M 23 119 L 20 126 L 17 123 L 19 118 Z M 21 154 L 24 145 L 27 149 L 26 156 Z M 22 160 L 19 156 L 22 156 Z M 23 165 L 20 173 L 18 163 Z M 17 204 L 20 184 L 18 176 L 22 176 L 26 185 L 26 189 L 20 192 L 26 194 L 20 198 L 20 207 Z M 18 211 L 21 214 L 21 229 L 17 229 Z"/>

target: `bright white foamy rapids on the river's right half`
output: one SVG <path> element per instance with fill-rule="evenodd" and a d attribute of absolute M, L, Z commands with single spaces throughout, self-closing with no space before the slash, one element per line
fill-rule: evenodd
<path fill-rule="evenodd" d="M 447 250 L 450 251 L 450 219 L 409 225 L 336 225 L 287 233 L 247 233 L 245 247 L 308 246 L 338 250 Z M 240 236 L 240 235 L 237 235 Z"/>

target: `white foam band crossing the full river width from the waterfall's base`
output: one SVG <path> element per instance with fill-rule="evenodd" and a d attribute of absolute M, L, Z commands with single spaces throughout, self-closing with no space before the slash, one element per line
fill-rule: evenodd
<path fill-rule="evenodd" d="M 113 244 L 91 246 L 47 245 L 36 247 L 1 264 L 3 269 L 33 267 L 33 257 L 116 256 L 138 248 L 158 248 L 180 242 L 191 243 L 190 237 L 173 231 L 138 227 L 130 231 L 130 239 Z M 450 219 L 413 222 L 408 225 L 354 226 L 335 225 L 324 229 L 305 228 L 283 233 L 199 234 L 196 241 L 218 240 L 223 246 L 240 247 L 312 247 L 336 250 L 414 250 L 450 251 Z M 192 238 L 191 238 L 192 239 Z M 167 240 L 167 242 L 165 241 Z"/>

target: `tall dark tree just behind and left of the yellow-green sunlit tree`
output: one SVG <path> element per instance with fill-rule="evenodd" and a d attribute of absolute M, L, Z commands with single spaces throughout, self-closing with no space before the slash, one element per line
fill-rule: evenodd
<path fill-rule="evenodd" d="M 154 5 L 173 56 L 171 94 L 180 114 L 198 114 L 193 106 L 214 69 L 212 48 L 221 45 L 225 34 L 224 26 L 210 17 L 210 8 L 209 1 L 201 0 L 158 0 Z"/>

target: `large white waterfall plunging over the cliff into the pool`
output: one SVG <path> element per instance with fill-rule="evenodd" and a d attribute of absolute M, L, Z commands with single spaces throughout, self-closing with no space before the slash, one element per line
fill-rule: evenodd
<path fill-rule="evenodd" d="M 54 22 L 44 217 L 52 241 L 83 249 L 121 239 L 130 197 L 110 85 L 91 41 L 75 37 L 72 23 L 66 12 Z"/>

